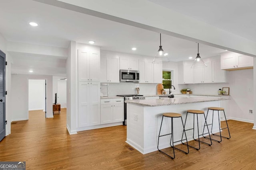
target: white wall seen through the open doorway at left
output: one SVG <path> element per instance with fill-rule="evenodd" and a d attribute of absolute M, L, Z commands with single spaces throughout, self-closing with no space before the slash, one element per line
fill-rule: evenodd
<path fill-rule="evenodd" d="M 28 80 L 28 110 L 45 110 L 45 80 Z"/>

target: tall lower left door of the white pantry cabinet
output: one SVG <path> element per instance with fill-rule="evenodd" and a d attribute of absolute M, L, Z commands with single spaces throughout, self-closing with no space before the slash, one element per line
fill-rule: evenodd
<path fill-rule="evenodd" d="M 78 84 L 78 127 L 90 125 L 90 84 L 79 82 Z"/>

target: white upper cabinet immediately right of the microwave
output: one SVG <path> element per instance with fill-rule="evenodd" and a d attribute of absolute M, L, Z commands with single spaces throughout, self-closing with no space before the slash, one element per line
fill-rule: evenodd
<path fill-rule="evenodd" d="M 139 61 L 140 83 L 153 83 L 152 61 Z"/>

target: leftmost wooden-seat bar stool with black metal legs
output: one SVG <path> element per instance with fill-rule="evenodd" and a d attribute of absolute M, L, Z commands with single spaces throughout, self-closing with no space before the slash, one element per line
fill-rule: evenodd
<path fill-rule="evenodd" d="M 171 146 L 172 149 L 173 149 L 173 157 L 170 156 L 169 154 L 163 152 L 162 150 L 160 150 L 160 149 L 158 148 L 158 145 L 159 145 L 159 138 L 162 137 L 162 136 L 166 136 L 166 135 L 160 135 L 164 117 L 170 117 L 170 118 L 171 118 L 171 121 L 172 121 L 171 133 L 166 134 L 166 135 L 171 135 L 170 146 Z M 160 131 L 159 131 L 159 135 L 158 135 L 157 149 L 159 150 L 159 152 L 161 152 L 161 153 L 163 153 L 163 154 L 169 156 L 169 157 L 172 158 L 172 159 L 175 158 L 174 149 L 180 150 L 181 152 L 184 152 L 185 154 L 188 154 L 188 152 L 189 152 L 189 150 L 188 150 L 188 152 L 185 152 L 184 150 L 181 150 L 181 149 L 178 149 L 178 148 L 174 147 L 174 143 L 177 143 L 177 142 L 180 142 L 180 141 L 182 142 L 183 140 L 186 140 L 186 141 L 187 141 L 187 136 L 186 136 L 186 132 L 185 132 L 185 129 L 184 129 L 184 124 L 183 124 L 183 121 L 182 121 L 182 127 L 183 127 L 182 137 L 183 137 L 183 134 L 185 133 L 186 139 L 183 139 L 183 140 L 174 142 L 174 138 L 173 138 L 173 136 L 174 136 L 174 135 L 173 135 L 173 118 L 178 118 L 178 117 L 180 117 L 180 119 L 181 119 L 181 121 L 182 121 L 181 114 L 179 114 L 179 113 L 163 113 L 162 122 L 161 122 L 161 126 L 160 126 Z M 187 141 L 187 142 L 188 142 L 188 141 Z"/>

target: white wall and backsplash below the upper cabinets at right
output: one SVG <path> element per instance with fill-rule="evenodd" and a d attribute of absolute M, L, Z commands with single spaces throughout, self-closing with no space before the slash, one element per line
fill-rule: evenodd
<path fill-rule="evenodd" d="M 226 71 L 228 83 L 179 84 L 179 88 L 190 88 L 193 94 L 218 94 L 222 87 L 230 88 L 228 119 L 254 122 L 253 109 L 253 69 Z M 251 90 L 251 92 L 249 92 Z"/>

